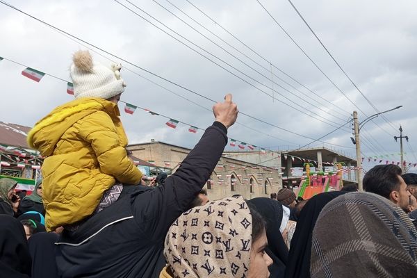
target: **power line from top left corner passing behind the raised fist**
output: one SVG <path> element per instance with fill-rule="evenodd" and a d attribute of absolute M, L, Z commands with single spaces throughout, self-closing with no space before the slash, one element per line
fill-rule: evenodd
<path fill-rule="evenodd" d="M 138 68 L 138 69 L 140 69 L 140 70 L 143 70 L 144 72 L 147 72 L 147 73 L 149 73 L 149 74 L 152 74 L 153 76 L 156 76 L 156 77 L 158 77 L 159 79 L 162 79 L 163 81 L 166 81 L 166 82 L 168 82 L 168 83 L 171 83 L 172 85 L 176 85 L 177 87 L 182 88 L 183 90 L 186 90 L 186 91 L 188 91 L 188 92 L 191 92 L 191 93 L 193 93 L 194 95 L 198 95 L 199 97 L 202 97 L 202 98 L 204 98 L 204 99 L 207 99 L 208 101 L 212 101 L 213 103 L 216 103 L 216 102 L 217 102 L 217 101 L 214 101 L 213 99 L 210 99 L 210 98 L 208 98 L 208 97 L 206 97 L 206 96 L 204 96 L 204 95 L 199 94 L 198 92 L 195 92 L 194 90 L 190 90 L 190 89 L 188 89 L 188 88 L 184 87 L 183 85 L 179 85 L 178 83 L 175 83 L 174 81 L 170 81 L 169 79 L 165 79 L 163 76 L 159 76 L 158 74 L 155 74 L 154 72 L 150 72 L 149 70 L 146 70 L 146 69 L 145 69 L 145 68 L 143 68 L 143 67 L 140 67 L 140 66 L 138 66 L 138 65 L 136 65 L 136 64 L 134 64 L 134 63 L 131 63 L 131 62 L 129 62 L 129 60 L 126 60 L 126 59 L 124 59 L 124 58 L 121 58 L 120 56 L 116 56 L 115 54 L 111 54 L 111 52 L 106 51 L 106 50 L 104 50 L 104 49 L 102 49 L 102 48 L 100 48 L 100 47 L 97 47 L 97 46 L 95 46 L 95 44 L 92 44 L 92 43 L 90 43 L 90 42 L 87 42 L 87 41 L 85 41 L 85 40 L 83 40 L 83 39 L 81 39 L 81 38 L 78 38 L 78 37 L 76 37 L 75 35 L 72 35 L 71 33 L 68 33 L 68 32 L 66 32 L 66 31 L 63 31 L 62 29 L 60 29 L 60 28 L 58 28 L 58 27 L 56 27 L 56 26 L 53 26 L 53 25 L 51 25 L 51 24 L 49 24 L 49 23 L 47 23 L 47 22 L 44 22 L 44 21 L 42 21 L 41 19 L 38 19 L 37 17 L 34 17 L 33 15 L 30 15 L 30 14 L 28 14 L 28 13 L 24 12 L 23 10 L 20 10 L 19 8 L 16 8 L 16 7 L 14 7 L 14 6 L 11 6 L 10 4 L 6 3 L 5 1 L 0 1 L 0 3 L 2 3 L 2 4 L 3 4 L 3 5 L 5 5 L 5 6 L 8 6 L 9 8 L 13 8 L 14 10 L 17 10 L 19 13 L 22 13 L 22 14 L 24 14 L 24 15 L 28 16 L 28 17 L 31 17 L 32 19 L 35 19 L 36 21 L 41 22 L 42 24 L 44 24 L 44 25 L 46 25 L 46 26 L 49 26 L 50 28 L 53 28 L 54 30 L 56 30 L 56 31 L 58 31 L 58 32 L 60 32 L 60 33 L 63 33 L 63 34 L 65 34 L 65 35 L 69 35 L 70 37 L 72 37 L 72 38 L 74 38 L 74 39 L 76 39 L 76 40 L 79 40 L 79 41 L 81 41 L 81 42 L 83 42 L 83 43 L 85 43 L 85 44 L 88 44 L 90 47 L 94 47 L 95 49 L 98 49 L 99 51 L 102 51 L 102 52 L 103 52 L 103 53 L 105 53 L 105 54 L 108 54 L 108 55 L 110 55 L 110 56 L 113 56 L 114 58 L 117 58 L 118 60 L 122 60 L 124 63 L 127 63 L 127 64 L 129 64 L 129 65 L 131 65 L 131 66 L 133 66 L 133 67 L 136 67 L 136 68 Z M 271 123 L 269 123 L 269 122 L 266 122 L 266 121 L 264 121 L 264 120 L 261 120 L 261 119 L 259 119 L 259 118 L 257 118 L 257 117 L 254 117 L 254 116 L 252 116 L 252 115 L 249 115 L 249 114 L 247 114 L 247 113 L 243 113 L 243 112 L 239 112 L 239 113 L 240 113 L 241 115 L 245 115 L 246 117 L 250 117 L 252 120 L 256 120 L 257 122 L 262 122 L 263 124 L 267 124 L 267 125 L 269 125 L 269 126 L 275 127 L 275 128 L 280 129 L 280 130 L 282 130 L 282 131 L 286 131 L 286 132 L 291 133 L 291 134 L 293 134 L 293 135 L 300 136 L 300 137 L 307 138 L 307 139 L 311 139 L 311 140 L 315 140 L 315 138 L 311 138 L 311 137 L 309 137 L 309 136 L 304 136 L 304 135 L 302 135 L 302 134 L 300 134 L 300 133 L 297 133 L 297 132 L 294 132 L 294 131 L 290 131 L 290 130 L 288 130 L 288 129 L 284 129 L 284 128 L 282 128 L 281 126 L 277 126 L 276 124 L 271 124 Z M 322 140 L 318 140 L 318 142 L 324 142 L 325 144 L 328 144 L 328 145 L 334 145 L 334 146 L 336 146 L 336 147 L 343 147 L 343 148 L 348 148 L 348 149 L 351 149 L 351 148 L 352 148 L 352 147 L 347 147 L 347 146 L 343 146 L 343 145 L 332 144 L 332 143 L 325 142 L 325 141 L 322 141 Z"/>

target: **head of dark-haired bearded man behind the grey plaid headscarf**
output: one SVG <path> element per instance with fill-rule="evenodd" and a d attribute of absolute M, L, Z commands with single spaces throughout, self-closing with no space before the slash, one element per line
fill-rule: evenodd
<path fill-rule="evenodd" d="M 390 199 L 407 211 L 410 193 L 401 177 L 401 168 L 397 165 L 377 165 L 366 172 L 363 177 L 363 190 Z"/>

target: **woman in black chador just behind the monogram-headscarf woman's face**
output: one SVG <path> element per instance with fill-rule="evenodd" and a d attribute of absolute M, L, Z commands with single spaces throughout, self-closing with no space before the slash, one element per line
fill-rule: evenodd
<path fill-rule="evenodd" d="M 274 199 L 265 197 L 250 199 L 247 202 L 256 208 L 266 222 L 266 237 L 268 238 L 266 253 L 273 261 L 268 268 L 271 277 L 284 277 L 288 262 L 288 247 L 281 234 L 286 231 L 289 222 L 289 208 Z"/>

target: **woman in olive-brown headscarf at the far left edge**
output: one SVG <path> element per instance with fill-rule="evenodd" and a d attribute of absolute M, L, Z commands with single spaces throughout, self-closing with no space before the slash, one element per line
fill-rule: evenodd
<path fill-rule="evenodd" d="M 17 186 L 14 179 L 0 179 L 0 214 L 14 216 L 19 206 L 19 197 L 13 193 Z"/>

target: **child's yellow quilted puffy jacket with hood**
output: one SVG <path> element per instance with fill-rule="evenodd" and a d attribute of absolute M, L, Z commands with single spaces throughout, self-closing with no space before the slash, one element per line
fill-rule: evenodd
<path fill-rule="evenodd" d="M 48 231 L 91 215 L 115 184 L 139 183 L 142 173 L 127 157 L 117 104 L 99 98 L 70 101 L 40 120 L 28 145 L 46 156 L 42 201 Z"/>

